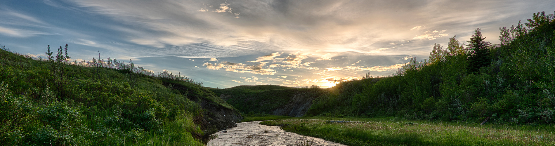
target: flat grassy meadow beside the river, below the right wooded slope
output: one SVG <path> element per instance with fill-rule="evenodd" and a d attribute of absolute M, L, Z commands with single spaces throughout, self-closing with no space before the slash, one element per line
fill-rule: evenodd
<path fill-rule="evenodd" d="M 329 120 L 351 122 L 330 123 Z M 430 122 L 395 118 L 292 118 L 261 122 L 346 145 L 555 145 L 555 127 Z"/>

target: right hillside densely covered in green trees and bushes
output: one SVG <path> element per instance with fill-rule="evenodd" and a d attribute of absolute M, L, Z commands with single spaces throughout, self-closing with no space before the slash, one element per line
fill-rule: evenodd
<path fill-rule="evenodd" d="M 468 44 L 453 36 L 430 58 L 412 58 L 392 77 L 353 80 L 322 94 L 306 114 L 465 120 L 498 124 L 555 122 L 555 18 L 499 28 L 501 44 L 476 29 Z"/>

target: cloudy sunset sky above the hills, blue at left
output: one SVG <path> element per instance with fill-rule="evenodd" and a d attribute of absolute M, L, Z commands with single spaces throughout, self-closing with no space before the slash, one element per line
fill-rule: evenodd
<path fill-rule="evenodd" d="M 555 1 L 2 0 L 0 44 L 29 56 L 68 44 L 77 61 L 132 59 L 205 87 L 327 88 L 392 75 L 476 28 L 499 43 L 499 27 L 542 11 Z"/>

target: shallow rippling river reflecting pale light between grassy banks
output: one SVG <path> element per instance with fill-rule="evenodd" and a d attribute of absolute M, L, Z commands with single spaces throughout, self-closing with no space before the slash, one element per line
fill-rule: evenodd
<path fill-rule="evenodd" d="M 320 138 L 285 132 L 277 126 L 258 124 L 260 122 L 237 123 L 237 127 L 228 129 L 226 133 L 215 133 L 218 138 L 210 140 L 208 145 L 343 145 Z"/>

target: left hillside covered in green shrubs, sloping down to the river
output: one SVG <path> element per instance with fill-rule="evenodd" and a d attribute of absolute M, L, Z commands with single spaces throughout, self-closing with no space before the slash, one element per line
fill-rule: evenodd
<path fill-rule="evenodd" d="M 242 119 L 193 79 L 67 49 L 0 49 L 0 145 L 204 145 Z"/>

